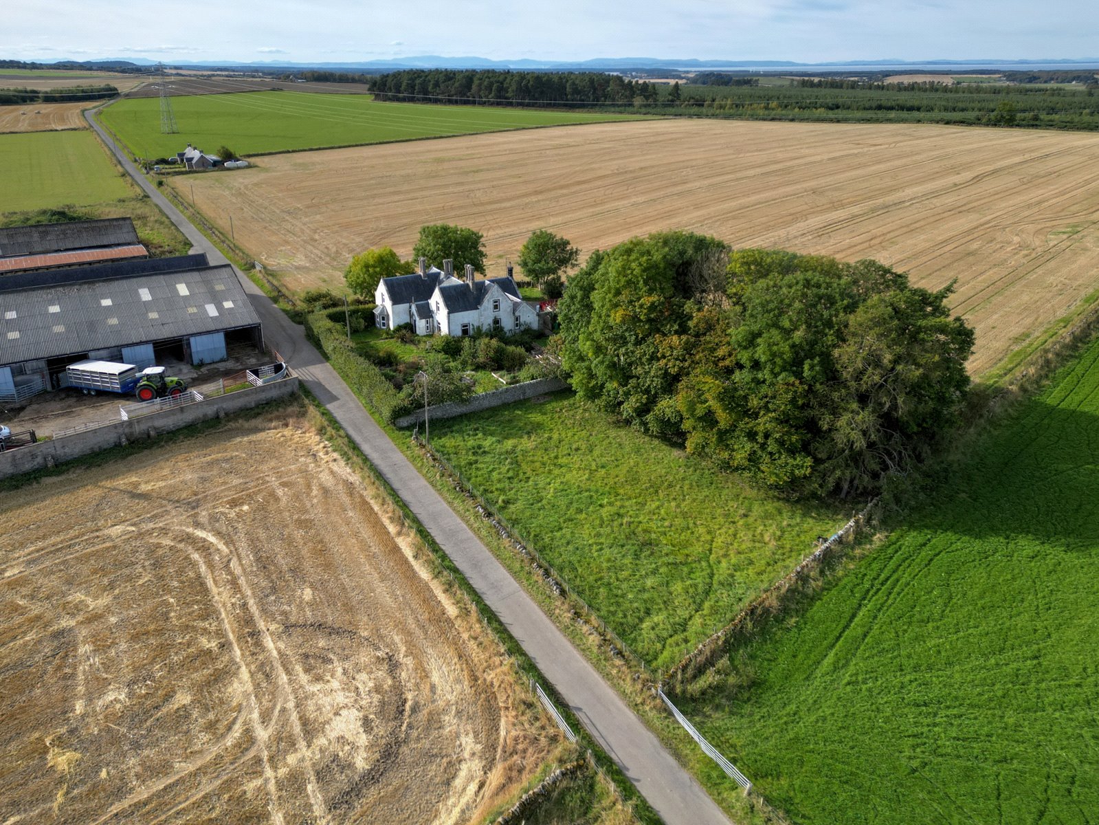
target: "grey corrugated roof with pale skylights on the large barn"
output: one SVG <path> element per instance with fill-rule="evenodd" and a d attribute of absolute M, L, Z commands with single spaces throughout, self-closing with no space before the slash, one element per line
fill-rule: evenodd
<path fill-rule="evenodd" d="M 0 292 L 0 364 L 258 323 L 231 266 L 54 283 Z"/>

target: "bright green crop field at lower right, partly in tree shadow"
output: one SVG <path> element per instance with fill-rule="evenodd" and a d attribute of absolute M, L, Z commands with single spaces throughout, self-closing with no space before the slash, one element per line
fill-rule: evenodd
<path fill-rule="evenodd" d="M 1095 823 L 1097 446 L 1099 342 L 682 710 L 795 823 Z"/>

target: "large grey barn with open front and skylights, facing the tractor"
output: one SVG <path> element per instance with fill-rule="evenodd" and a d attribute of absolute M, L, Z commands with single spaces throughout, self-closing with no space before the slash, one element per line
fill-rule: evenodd
<path fill-rule="evenodd" d="M 206 255 L 0 277 L 0 402 L 58 388 L 75 361 L 203 364 L 236 342 L 263 345 L 259 318 Z"/>

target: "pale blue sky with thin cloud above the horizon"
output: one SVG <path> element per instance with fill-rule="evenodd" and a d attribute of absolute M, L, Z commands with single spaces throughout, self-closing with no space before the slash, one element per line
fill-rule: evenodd
<path fill-rule="evenodd" d="M 5 0 L 0 58 L 1051 59 L 1097 32 L 1094 0 Z"/>

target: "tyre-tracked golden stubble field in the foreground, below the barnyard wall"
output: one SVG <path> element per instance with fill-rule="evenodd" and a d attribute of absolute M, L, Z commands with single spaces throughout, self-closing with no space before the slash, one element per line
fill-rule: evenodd
<path fill-rule="evenodd" d="M 555 747 L 297 415 L 5 494 L 0 821 L 463 823 Z"/>

